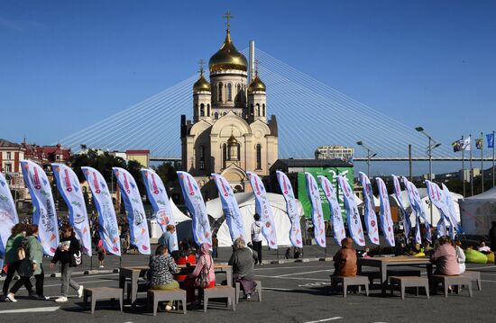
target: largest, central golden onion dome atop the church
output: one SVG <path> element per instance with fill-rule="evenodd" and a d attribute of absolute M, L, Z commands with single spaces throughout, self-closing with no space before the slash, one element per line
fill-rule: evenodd
<path fill-rule="evenodd" d="M 244 72 L 248 69 L 248 61 L 242 53 L 240 53 L 231 40 L 231 32 L 225 33 L 225 40 L 222 47 L 208 61 L 210 73 L 225 70 L 238 69 Z"/>

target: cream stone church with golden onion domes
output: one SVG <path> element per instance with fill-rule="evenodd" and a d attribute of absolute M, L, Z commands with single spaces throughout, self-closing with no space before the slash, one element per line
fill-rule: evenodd
<path fill-rule="evenodd" d="M 268 118 L 266 86 L 248 61 L 234 47 L 227 29 L 221 48 L 208 61 L 209 81 L 203 67 L 193 85 L 193 120 L 181 115 L 182 167 L 200 186 L 211 174 L 225 176 L 234 193 L 251 191 L 246 171 L 269 175 L 278 159 L 276 117 Z M 251 50 L 254 53 L 254 50 Z M 212 185 L 208 184 L 208 186 Z M 204 187 L 207 198 L 216 197 Z M 212 196 L 209 196 L 212 195 Z"/>

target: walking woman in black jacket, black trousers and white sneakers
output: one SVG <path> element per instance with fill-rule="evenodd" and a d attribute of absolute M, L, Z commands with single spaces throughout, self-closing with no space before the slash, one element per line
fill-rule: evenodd
<path fill-rule="evenodd" d="M 74 228 L 67 225 L 62 228 L 62 238 L 60 239 L 59 247 L 55 251 L 55 256 L 51 259 L 50 267 L 54 268 L 55 264 L 60 262 L 62 282 L 62 295 L 55 300 L 56 302 L 68 301 L 69 286 L 78 292 L 78 298 L 83 297 L 83 285 L 79 285 L 71 278 L 74 268 L 78 265 L 77 258 L 81 258 L 81 250 L 79 241 L 74 234 Z"/>

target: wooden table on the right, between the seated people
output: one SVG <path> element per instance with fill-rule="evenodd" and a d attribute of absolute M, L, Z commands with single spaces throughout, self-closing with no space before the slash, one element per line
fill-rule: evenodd
<path fill-rule="evenodd" d="M 362 271 L 362 266 L 370 266 L 379 268 L 381 274 L 381 287 L 382 294 L 386 293 L 388 284 L 388 266 L 399 265 L 425 265 L 427 267 L 427 277 L 432 277 L 432 263 L 426 257 L 418 256 L 385 256 L 385 257 L 372 257 L 372 258 L 358 258 L 357 261 L 358 272 Z"/>

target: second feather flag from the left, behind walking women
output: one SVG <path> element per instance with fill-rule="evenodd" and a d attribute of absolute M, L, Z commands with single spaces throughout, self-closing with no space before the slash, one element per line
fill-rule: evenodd
<path fill-rule="evenodd" d="M 59 224 L 48 177 L 37 164 L 21 160 L 23 178 L 32 198 L 32 223 L 38 225 L 38 240 L 45 255 L 53 256 L 59 247 Z"/>

